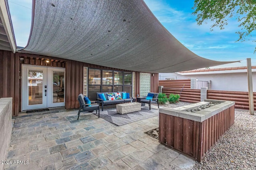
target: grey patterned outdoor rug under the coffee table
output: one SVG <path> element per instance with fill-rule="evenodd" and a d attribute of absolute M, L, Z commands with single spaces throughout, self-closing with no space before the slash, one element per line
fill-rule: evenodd
<path fill-rule="evenodd" d="M 116 113 L 116 108 L 113 109 L 105 109 L 104 111 L 100 111 L 100 117 L 105 119 L 115 125 L 121 126 L 126 125 L 128 123 L 132 123 L 135 121 L 148 119 L 150 117 L 158 116 L 159 110 L 153 109 L 149 110 L 149 107 L 141 107 L 141 111 L 135 111 L 132 113 L 119 114 Z"/>

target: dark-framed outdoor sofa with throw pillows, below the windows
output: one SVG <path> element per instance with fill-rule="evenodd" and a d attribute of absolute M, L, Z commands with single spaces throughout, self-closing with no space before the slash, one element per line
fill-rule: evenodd
<path fill-rule="evenodd" d="M 123 99 L 123 93 L 126 93 L 126 92 L 119 92 L 119 93 L 121 93 L 121 98 L 122 98 L 122 99 L 118 99 L 118 100 L 108 100 L 107 94 L 109 94 L 109 93 L 116 93 L 116 92 L 97 92 L 97 103 L 98 103 L 98 104 L 101 104 L 102 111 L 103 111 L 104 105 L 108 105 L 108 104 L 120 104 L 120 103 L 132 102 L 132 100 L 133 100 L 132 97 L 130 97 L 130 98 L 128 98 L 128 99 Z M 100 94 L 104 94 L 106 100 L 103 100 L 102 98 L 100 98 L 100 97 L 99 97 Z"/>

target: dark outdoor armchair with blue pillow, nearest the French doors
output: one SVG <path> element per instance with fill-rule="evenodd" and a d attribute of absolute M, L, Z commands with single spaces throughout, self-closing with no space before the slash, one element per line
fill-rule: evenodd
<path fill-rule="evenodd" d="M 97 101 L 91 101 L 91 104 L 86 104 L 85 101 L 84 101 L 84 95 L 83 94 L 79 94 L 77 100 L 80 104 L 77 119 L 79 119 L 80 112 L 94 111 L 94 110 L 96 110 L 96 114 L 99 111 L 98 116 L 100 117 L 100 104 L 97 104 Z M 89 106 L 89 105 L 91 105 L 91 106 Z"/>

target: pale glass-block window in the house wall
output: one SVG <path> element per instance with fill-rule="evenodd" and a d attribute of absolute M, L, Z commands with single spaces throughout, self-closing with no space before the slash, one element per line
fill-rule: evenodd
<path fill-rule="evenodd" d="M 150 92 L 150 74 L 140 73 L 140 97 L 147 96 Z"/>

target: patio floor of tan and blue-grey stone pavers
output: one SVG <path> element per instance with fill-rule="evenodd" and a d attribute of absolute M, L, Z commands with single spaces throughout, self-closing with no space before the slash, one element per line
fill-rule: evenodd
<path fill-rule="evenodd" d="M 160 144 L 144 132 L 158 116 L 123 126 L 77 110 L 50 109 L 16 117 L 6 170 L 180 170 L 195 160 Z"/>

